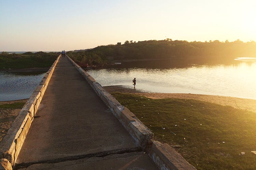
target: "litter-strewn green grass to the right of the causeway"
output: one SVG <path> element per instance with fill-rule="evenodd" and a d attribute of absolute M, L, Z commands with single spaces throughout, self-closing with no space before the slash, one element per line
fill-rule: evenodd
<path fill-rule="evenodd" d="M 152 130 L 154 140 L 180 145 L 175 150 L 197 169 L 256 169 L 256 113 L 197 100 L 112 95 Z"/>

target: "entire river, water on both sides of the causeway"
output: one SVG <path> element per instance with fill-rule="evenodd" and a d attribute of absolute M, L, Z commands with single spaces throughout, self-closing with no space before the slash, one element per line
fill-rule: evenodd
<path fill-rule="evenodd" d="M 89 70 L 102 86 L 126 85 L 160 93 L 191 93 L 231 96 L 256 100 L 256 58 L 238 58 L 233 64 L 190 64 L 158 61 L 134 62 L 115 68 Z M 138 64 L 138 62 L 135 62 Z M 179 65 L 179 66 L 178 66 Z M 136 68 L 131 68 L 131 67 Z M 29 98 L 45 73 L 17 74 L 0 72 L 0 101 Z"/>

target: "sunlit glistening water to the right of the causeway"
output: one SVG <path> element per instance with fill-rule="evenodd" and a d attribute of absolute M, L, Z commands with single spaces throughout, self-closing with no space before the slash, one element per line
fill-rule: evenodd
<path fill-rule="evenodd" d="M 136 88 L 145 91 L 256 99 L 256 60 L 253 59 L 237 58 L 237 63 L 228 65 L 100 69 L 88 73 L 102 86 L 132 87 L 132 80 L 136 78 Z"/>

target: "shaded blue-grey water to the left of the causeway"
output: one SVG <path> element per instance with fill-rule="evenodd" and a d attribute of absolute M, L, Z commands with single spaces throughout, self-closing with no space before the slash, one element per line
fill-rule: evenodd
<path fill-rule="evenodd" d="M 27 99 L 39 85 L 45 73 L 27 72 L 22 75 L 0 72 L 0 101 Z"/>

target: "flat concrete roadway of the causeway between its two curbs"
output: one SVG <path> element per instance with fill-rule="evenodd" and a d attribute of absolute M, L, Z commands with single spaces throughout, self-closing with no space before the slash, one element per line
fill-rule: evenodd
<path fill-rule="evenodd" d="M 84 77 L 60 57 L 14 169 L 158 169 Z"/>

